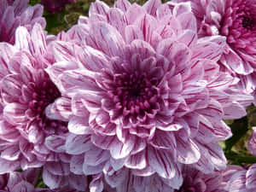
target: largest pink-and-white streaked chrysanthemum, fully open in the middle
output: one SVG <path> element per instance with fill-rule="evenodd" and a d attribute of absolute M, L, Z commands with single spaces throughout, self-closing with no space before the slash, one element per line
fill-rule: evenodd
<path fill-rule="evenodd" d="M 76 26 L 84 45 L 55 42 L 59 62 L 47 68 L 61 98 L 46 112 L 68 121 L 72 171 L 110 165 L 182 183 L 183 164 L 223 169 L 216 142 L 231 132 L 222 119 L 246 115 L 239 102 L 252 100 L 219 71 L 225 38 L 198 39 L 189 3 L 96 1 L 89 15 Z"/>

